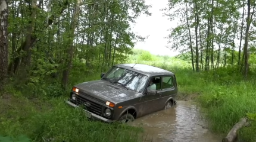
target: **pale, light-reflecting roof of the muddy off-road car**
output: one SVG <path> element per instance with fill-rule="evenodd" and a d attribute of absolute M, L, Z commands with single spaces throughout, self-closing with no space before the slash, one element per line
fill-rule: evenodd
<path fill-rule="evenodd" d="M 124 69 L 132 70 L 148 76 L 174 75 L 174 73 L 168 70 L 160 69 L 159 67 L 149 66 L 147 64 L 115 64 L 114 66 L 122 67 Z"/>

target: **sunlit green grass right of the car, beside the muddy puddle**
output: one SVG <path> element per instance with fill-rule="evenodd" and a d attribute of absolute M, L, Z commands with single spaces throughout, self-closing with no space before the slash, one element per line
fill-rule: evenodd
<path fill-rule="evenodd" d="M 181 57 L 180 60 L 179 58 Z M 185 58 L 183 58 L 185 57 Z M 145 62 L 174 72 L 179 87 L 179 98 L 196 95 L 196 102 L 209 121 L 210 129 L 226 134 L 242 117 L 255 119 L 256 95 L 255 73 L 249 76 L 251 80 L 242 81 L 243 76 L 236 67 L 220 67 L 208 72 L 195 73 L 186 59 L 186 54 L 170 58 L 166 62 Z M 199 95 L 198 95 L 199 94 Z M 248 115 L 249 114 L 249 115 Z M 255 141 L 256 122 L 239 131 L 239 138 Z"/>

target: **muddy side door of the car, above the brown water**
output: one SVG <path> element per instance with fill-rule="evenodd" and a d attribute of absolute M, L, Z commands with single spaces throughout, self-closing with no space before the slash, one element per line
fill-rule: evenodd
<path fill-rule="evenodd" d="M 155 79 L 155 81 L 159 81 L 159 83 L 157 82 L 153 82 L 156 85 L 156 90 L 160 91 L 160 84 L 161 84 L 161 78 L 160 76 L 154 76 L 150 79 Z M 150 79 L 148 81 L 147 87 L 149 85 Z M 147 89 L 147 88 L 146 88 Z M 147 95 L 146 93 L 144 93 L 144 95 L 142 96 L 142 101 L 143 101 L 143 115 L 146 114 L 150 114 L 152 112 L 155 112 L 158 110 L 158 99 L 159 99 L 159 95 Z"/>

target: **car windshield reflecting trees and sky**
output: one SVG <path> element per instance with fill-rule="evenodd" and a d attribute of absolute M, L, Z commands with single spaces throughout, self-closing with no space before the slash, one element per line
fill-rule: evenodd
<path fill-rule="evenodd" d="M 127 89 L 142 92 L 148 77 L 131 70 L 120 67 L 112 67 L 110 72 L 108 72 L 103 79 L 108 79 L 112 83 L 117 83 L 118 85 L 122 85 Z"/>

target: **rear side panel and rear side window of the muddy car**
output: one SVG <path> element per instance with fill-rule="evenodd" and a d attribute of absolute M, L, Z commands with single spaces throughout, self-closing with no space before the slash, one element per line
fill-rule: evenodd
<path fill-rule="evenodd" d="M 176 80 L 173 75 L 161 76 L 161 90 L 158 91 L 160 99 L 157 104 L 160 106 L 160 109 L 164 108 L 166 101 L 173 95 L 176 95 L 176 88 L 174 87 Z"/>

